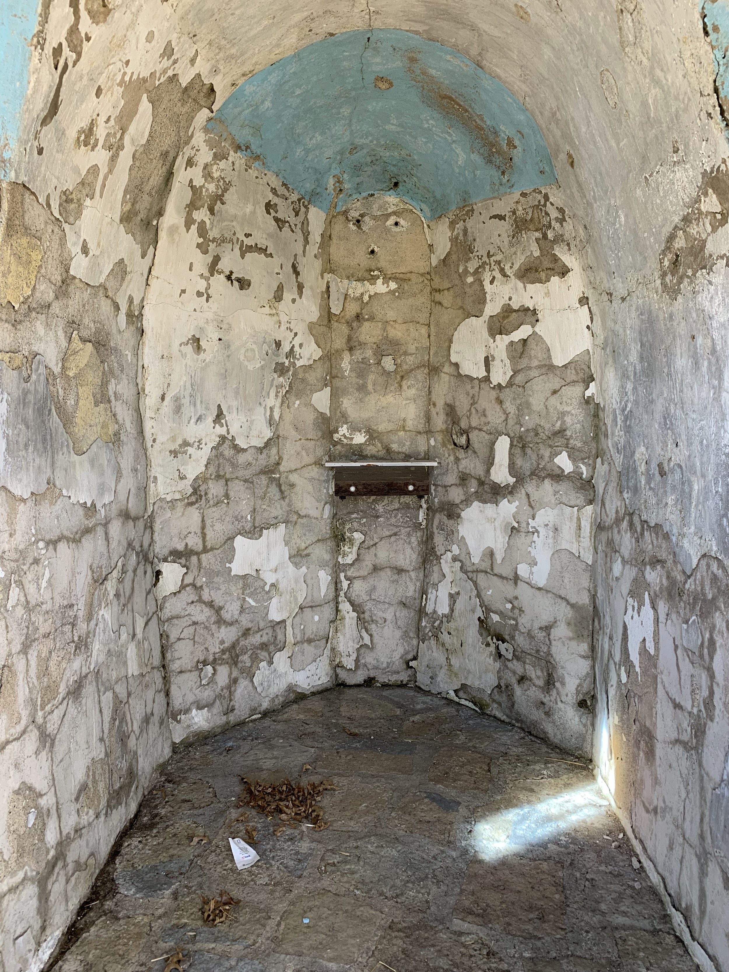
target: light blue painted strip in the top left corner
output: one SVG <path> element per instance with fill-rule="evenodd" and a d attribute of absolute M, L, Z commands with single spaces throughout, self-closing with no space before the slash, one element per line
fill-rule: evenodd
<path fill-rule="evenodd" d="M 0 170 L 17 142 L 37 17 L 38 0 L 0 0 Z"/>

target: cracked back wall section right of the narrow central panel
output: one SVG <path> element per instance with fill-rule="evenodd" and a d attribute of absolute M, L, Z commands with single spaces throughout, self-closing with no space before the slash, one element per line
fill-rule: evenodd
<path fill-rule="evenodd" d="M 439 466 L 418 684 L 588 753 L 597 442 L 584 238 L 552 190 L 456 211 L 432 233 Z"/>

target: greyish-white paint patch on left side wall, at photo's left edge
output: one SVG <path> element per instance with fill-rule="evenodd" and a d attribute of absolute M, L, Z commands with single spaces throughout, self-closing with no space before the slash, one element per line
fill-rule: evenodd
<path fill-rule="evenodd" d="M 49 479 L 72 503 L 101 509 L 114 499 L 114 447 L 97 438 L 76 455 L 53 408 L 42 355 L 27 382 L 22 369 L 0 363 L 0 486 L 27 500 L 45 492 Z"/>

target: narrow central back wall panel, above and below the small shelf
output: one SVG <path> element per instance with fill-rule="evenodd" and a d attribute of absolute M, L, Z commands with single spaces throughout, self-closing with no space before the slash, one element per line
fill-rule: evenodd
<path fill-rule="evenodd" d="M 331 220 L 329 270 L 330 458 L 428 458 L 427 226 L 394 196 L 365 197 Z M 428 501 L 363 497 L 333 505 L 337 678 L 411 681 Z"/>

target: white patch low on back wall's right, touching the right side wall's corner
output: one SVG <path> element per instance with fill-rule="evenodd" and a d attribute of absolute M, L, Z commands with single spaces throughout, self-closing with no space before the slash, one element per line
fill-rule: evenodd
<path fill-rule="evenodd" d="M 535 535 L 529 552 L 537 563 L 518 564 L 516 573 L 535 587 L 543 587 L 549 576 L 552 554 L 569 550 L 585 564 L 592 563 L 592 517 L 594 506 L 545 506 L 530 519 L 529 529 Z"/>

